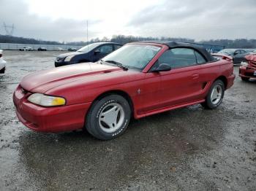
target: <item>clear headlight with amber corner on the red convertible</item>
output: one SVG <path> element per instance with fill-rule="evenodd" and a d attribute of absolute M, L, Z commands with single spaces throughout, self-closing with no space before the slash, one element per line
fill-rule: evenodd
<path fill-rule="evenodd" d="M 42 93 L 34 93 L 29 96 L 28 100 L 39 106 L 64 106 L 66 104 L 64 98 L 44 95 Z"/>

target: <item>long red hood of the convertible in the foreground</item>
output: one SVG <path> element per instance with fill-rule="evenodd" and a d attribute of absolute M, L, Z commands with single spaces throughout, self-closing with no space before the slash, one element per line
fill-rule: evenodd
<path fill-rule="evenodd" d="M 69 82 L 86 77 L 99 77 L 102 74 L 118 71 L 124 70 L 117 66 L 108 66 L 100 63 L 79 63 L 29 74 L 22 79 L 20 86 L 32 93 L 45 93 L 54 87 Z"/>

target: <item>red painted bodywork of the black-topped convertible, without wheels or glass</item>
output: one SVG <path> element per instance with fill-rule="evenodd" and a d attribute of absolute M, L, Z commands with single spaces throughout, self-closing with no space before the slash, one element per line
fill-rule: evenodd
<path fill-rule="evenodd" d="M 226 89 L 233 85 L 235 75 L 233 63 L 229 59 L 159 73 L 148 72 L 168 49 L 163 44 L 157 46 L 162 47 L 162 50 L 143 71 L 124 71 L 116 66 L 81 63 L 38 71 L 24 77 L 13 95 L 19 120 L 38 131 L 75 130 L 83 128 L 91 103 L 109 91 L 121 91 L 129 95 L 134 117 L 138 119 L 203 102 L 211 84 L 219 77 L 225 79 Z M 29 93 L 24 94 L 21 87 Z M 66 98 L 67 104 L 37 106 L 27 100 L 31 93 L 61 96 Z"/>

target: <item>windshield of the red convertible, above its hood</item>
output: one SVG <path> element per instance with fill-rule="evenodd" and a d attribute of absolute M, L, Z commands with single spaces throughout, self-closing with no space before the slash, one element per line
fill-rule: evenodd
<path fill-rule="evenodd" d="M 115 61 L 127 68 L 142 70 L 160 49 L 161 47 L 146 44 L 128 44 L 107 55 L 102 61 Z"/>

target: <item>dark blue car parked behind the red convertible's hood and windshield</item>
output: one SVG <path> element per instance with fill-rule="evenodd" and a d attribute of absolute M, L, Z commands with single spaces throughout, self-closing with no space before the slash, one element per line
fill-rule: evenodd
<path fill-rule="evenodd" d="M 96 62 L 123 44 L 113 42 L 97 42 L 80 48 L 76 52 L 68 52 L 57 56 L 55 66 L 66 66 L 74 63 Z"/>

